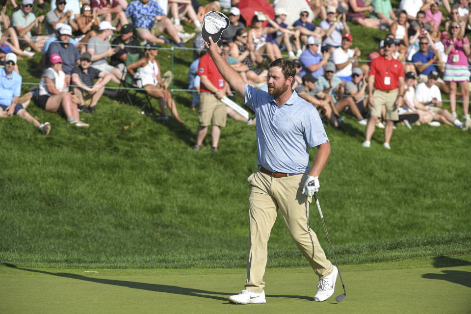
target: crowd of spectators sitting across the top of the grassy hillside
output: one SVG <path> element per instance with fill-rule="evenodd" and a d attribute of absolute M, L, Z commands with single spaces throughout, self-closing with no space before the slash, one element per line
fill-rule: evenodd
<path fill-rule="evenodd" d="M 372 105 L 368 95 L 374 90 L 368 88 L 369 65 L 384 55 L 385 46 L 404 68 L 398 87 L 405 91 L 397 103 L 399 121 L 470 128 L 468 0 L 401 0 L 398 8 L 390 0 L 312 0 L 309 4 L 293 0 L 292 6 L 275 0 L 273 9 L 258 9 L 244 17 L 239 1 L 229 2 L 211 1 L 203 6 L 197 0 L 51 0 L 50 10 L 45 12 L 43 1 L 36 8 L 33 0 L 21 0 L 19 5 L 10 1 L 14 6 L 11 16 L 5 14 L 6 5 L 0 11 L 0 66 L 4 67 L 0 88 L 9 90 L 8 99 L 2 96 L 0 117 L 17 114 L 49 134 L 51 126 L 29 116 L 25 109 L 29 99 L 19 102 L 18 87 L 11 84 L 18 77 L 21 82 L 17 59 L 41 53 L 39 68 L 45 70 L 39 86 L 32 90 L 33 101 L 46 111 L 63 112 L 70 124 L 87 127 L 80 112 L 95 112 L 103 94 L 116 96 L 105 85 L 109 81 L 122 84 L 127 75 L 159 100 L 162 119 L 168 119 L 168 108 L 183 123 L 178 104 L 163 83 L 156 44 L 186 48 L 184 43 L 193 41 L 193 60 L 187 60 L 192 61 L 188 75 L 189 88 L 194 91 L 192 106 L 196 110 L 202 103 L 211 103 L 219 108 L 217 118 L 201 121 L 195 149 L 201 148 L 212 124 L 216 151 L 226 115 L 253 123 L 219 104 L 232 93 L 212 73 L 199 34 L 204 15 L 223 10 L 231 24 L 219 41 L 220 53 L 241 77 L 248 84 L 266 88 L 266 64 L 289 58 L 297 72 L 293 88 L 335 128 L 344 123 L 342 114 L 352 114 L 366 125 Z M 319 20 L 316 25 L 314 21 Z M 185 32 L 182 21 L 194 30 Z M 378 43 L 378 50 L 366 56 L 357 43 L 368 38 L 357 38 L 349 24 L 382 29 L 387 35 Z M 450 111 L 441 108 L 441 93 L 449 95 Z M 460 117 L 457 103 L 462 104 Z M 384 128 L 384 120 L 383 112 L 375 126 Z"/>

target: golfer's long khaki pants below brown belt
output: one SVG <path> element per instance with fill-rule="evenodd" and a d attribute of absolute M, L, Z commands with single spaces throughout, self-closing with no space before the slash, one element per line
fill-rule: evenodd
<path fill-rule="evenodd" d="M 304 195 L 307 175 L 273 178 L 260 171 L 248 179 L 252 186 L 249 196 L 250 239 L 245 288 L 260 293 L 265 287 L 263 274 L 267 260 L 267 243 L 281 210 L 289 233 L 314 272 L 323 279 L 333 271 L 314 231 L 309 228 L 309 204 L 312 197 Z"/>

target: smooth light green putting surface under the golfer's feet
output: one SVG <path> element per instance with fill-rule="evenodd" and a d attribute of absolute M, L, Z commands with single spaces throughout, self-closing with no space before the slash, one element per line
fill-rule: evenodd
<path fill-rule="evenodd" d="M 314 302 L 309 268 L 267 269 L 266 304 L 232 305 L 244 269 L 30 269 L 0 266 L 0 313 L 470 313 L 471 256 L 340 265 Z"/>

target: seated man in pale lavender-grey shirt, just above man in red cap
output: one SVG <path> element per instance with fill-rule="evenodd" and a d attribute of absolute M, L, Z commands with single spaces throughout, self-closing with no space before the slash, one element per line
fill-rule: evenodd
<path fill-rule="evenodd" d="M 322 40 L 322 52 L 329 50 L 331 47 L 339 48 L 342 45 L 342 34 L 350 33 L 350 28 L 345 21 L 345 13 L 337 14 L 333 6 L 327 7 L 327 19 L 319 24 L 319 26 L 325 31 L 326 36 Z"/>

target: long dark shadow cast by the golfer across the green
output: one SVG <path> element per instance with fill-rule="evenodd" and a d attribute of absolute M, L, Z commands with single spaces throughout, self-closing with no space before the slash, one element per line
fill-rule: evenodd
<path fill-rule="evenodd" d="M 29 272 L 63 277 L 63 278 L 70 278 L 70 279 L 78 279 L 83 281 L 89 281 L 97 284 L 105 284 L 105 285 L 112 285 L 112 286 L 119 286 L 119 287 L 128 287 L 133 289 L 142 289 L 148 291 L 155 291 L 155 292 L 164 292 L 164 293 L 173 293 L 173 294 L 180 294 L 180 295 L 188 295 L 188 296 L 195 296 L 200 298 L 208 298 L 220 301 L 228 301 L 228 297 L 234 293 L 227 293 L 227 292 L 217 292 L 217 291 L 208 291 L 208 290 L 201 290 L 195 288 L 184 288 L 178 286 L 169 286 L 169 285 L 158 285 L 158 284 L 149 284 L 149 283 L 140 283 L 134 281 L 125 281 L 125 280 L 114 280 L 114 279 L 103 279 L 103 278 L 93 278 L 93 277 L 86 277 L 77 274 L 71 273 L 52 273 L 49 271 L 44 270 L 37 270 L 37 269 L 28 269 L 28 268 L 21 268 L 17 267 L 10 263 L 1 263 L 4 266 L 25 270 Z M 216 295 L 211 295 L 216 294 Z M 221 295 L 221 296 L 217 296 Z M 309 296 L 301 296 L 301 295 L 266 295 L 267 297 L 278 297 L 278 298 L 294 298 L 294 299 L 303 299 L 307 301 L 314 301 L 313 297 Z M 225 304 L 232 304 L 227 302 Z M 336 304 L 336 303 L 334 303 Z"/>

